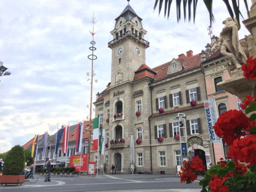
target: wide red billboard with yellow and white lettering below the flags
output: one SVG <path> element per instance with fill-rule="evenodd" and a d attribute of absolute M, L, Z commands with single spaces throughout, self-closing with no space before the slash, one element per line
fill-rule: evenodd
<path fill-rule="evenodd" d="M 75 167 L 76 171 L 87 171 L 87 163 L 88 154 L 70 156 L 70 167 Z"/>

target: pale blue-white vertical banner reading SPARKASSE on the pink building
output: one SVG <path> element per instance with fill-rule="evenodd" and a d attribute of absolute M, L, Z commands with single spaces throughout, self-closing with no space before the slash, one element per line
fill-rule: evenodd
<path fill-rule="evenodd" d="M 213 126 L 217 122 L 217 112 L 215 107 L 214 99 L 211 98 L 209 100 L 204 101 L 204 109 L 207 121 L 207 128 L 209 132 L 210 142 L 211 143 L 219 143 L 221 142 L 220 137 L 218 137 L 213 129 Z"/>

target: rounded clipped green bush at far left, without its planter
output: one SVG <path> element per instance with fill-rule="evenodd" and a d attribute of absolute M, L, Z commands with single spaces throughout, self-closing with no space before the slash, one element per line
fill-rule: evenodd
<path fill-rule="evenodd" d="M 7 154 L 4 161 L 4 175 L 20 175 L 25 166 L 24 149 L 16 145 Z"/>

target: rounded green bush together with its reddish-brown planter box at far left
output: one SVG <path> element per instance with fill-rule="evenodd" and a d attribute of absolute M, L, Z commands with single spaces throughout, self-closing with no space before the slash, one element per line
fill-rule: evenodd
<path fill-rule="evenodd" d="M 20 175 L 25 165 L 24 149 L 16 145 L 6 155 L 4 160 L 3 175 L 0 176 L 0 184 L 22 184 L 25 175 Z"/>

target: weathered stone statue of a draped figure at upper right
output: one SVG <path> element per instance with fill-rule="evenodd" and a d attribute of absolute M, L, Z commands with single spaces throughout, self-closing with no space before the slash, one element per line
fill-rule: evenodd
<path fill-rule="evenodd" d="M 238 37 L 240 26 L 238 26 L 231 17 L 226 18 L 223 21 L 223 24 L 225 27 L 220 34 L 219 43 L 221 46 L 221 53 L 230 60 L 230 63 L 224 65 L 227 68 L 229 75 L 232 77 L 235 72 L 234 70 L 241 69 L 242 64 L 246 62 L 247 56 Z"/>

